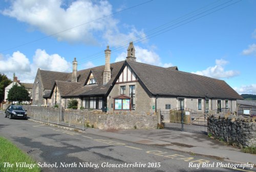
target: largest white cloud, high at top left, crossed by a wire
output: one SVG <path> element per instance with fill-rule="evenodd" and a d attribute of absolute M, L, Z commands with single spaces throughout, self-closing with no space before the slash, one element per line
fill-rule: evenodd
<path fill-rule="evenodd" d="M 114 45 L 120 40 L 144 35 L 143 31 L 137 31 L 134 27 L 128 34 L 120 33 L 118 20 L 108 16 L 113 13 L 112 5 L 108 1 L 77 0 L 70 4 L 65 4 L 62 0 L 11 2 L 11 7 L 1 11 L 2 14 L 25 22 L 47 35 L 54 34 L 59 41 L 95 45 L 102 42 L 97 39 L 104 37 L 109 44 Z M 72 27 L 74 28 L 71 30 L 61 32 Z"/>

